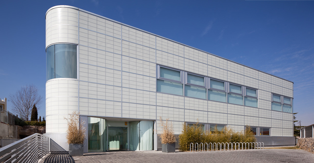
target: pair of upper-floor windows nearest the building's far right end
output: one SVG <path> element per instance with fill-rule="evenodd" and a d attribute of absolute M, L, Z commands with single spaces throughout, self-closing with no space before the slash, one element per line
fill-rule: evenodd
<path fill-rule="evenodd" d="M 292 98 L 272 94 L 272 110 L 292 113 Z"/>

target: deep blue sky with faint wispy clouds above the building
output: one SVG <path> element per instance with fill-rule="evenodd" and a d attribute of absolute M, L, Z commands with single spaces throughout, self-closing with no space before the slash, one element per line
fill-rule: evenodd
<path fill-rule="evenodd" d="M 294 112 L 314 124 L 314 1 L 3 1 L 0 98 L 35 84 L 45 99 L 45 14 L 71 5 L 294 82 Z M 8 111 L 11 111 L 8 98 Z M 45 100 L 38 116 L 45 116 Z"/>

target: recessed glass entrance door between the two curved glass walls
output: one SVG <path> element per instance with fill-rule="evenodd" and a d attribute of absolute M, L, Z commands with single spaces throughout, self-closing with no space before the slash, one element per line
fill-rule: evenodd
<path fill-rule="evenodd" d="M 108 126 L 109 150 L 127 150 L 127 127 Z"/>

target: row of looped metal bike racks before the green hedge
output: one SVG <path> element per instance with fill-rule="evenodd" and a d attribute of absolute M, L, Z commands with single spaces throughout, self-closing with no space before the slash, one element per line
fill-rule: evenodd
<path fill-rule="evenodd" d="M 225 143 L 190 143 L 190 152 L 196 151 L 217 151 L 217 150 L 246 150 L 246 149 L 262 149 L 263 142 L 225 142 Z M 259 146 L 259 147 L 258 147 Z M 192 148 L 191 148 L 192 147 Z M 240 148 L 241 147 L 241 148 Z M 192 150 L 191 150 L 192 149 Z M 264 149 L 264 143 L 263 143 Z"/>

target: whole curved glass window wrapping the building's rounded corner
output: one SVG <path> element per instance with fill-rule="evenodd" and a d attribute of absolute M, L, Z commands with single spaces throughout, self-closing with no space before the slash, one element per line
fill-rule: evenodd
<path fill-rule="evenodd" d="M 76 45 L 51 45 L 46 50 L 46 56 L 46 80 L 54 78 L 77 79 Z"/>

